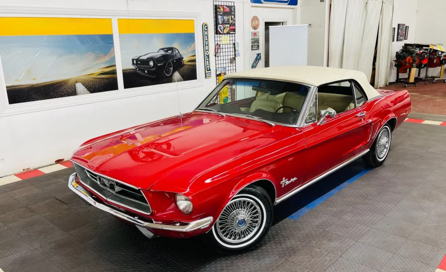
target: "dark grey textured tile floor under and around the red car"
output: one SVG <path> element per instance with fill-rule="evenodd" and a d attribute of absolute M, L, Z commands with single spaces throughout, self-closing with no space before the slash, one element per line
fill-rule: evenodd
<path fill-rule="evenodd" d="M 237 256 L 216 255 L 199 238 L 146 238 L 79 201 L 67 188 L 72 168 L 4 185 L 0 267 L 434 272 L 446 254 L 445 135 L 443 126 L 404 123 L 383 166 L 369 171 L 358 160 L 277 205 L 261 247 Z"/>

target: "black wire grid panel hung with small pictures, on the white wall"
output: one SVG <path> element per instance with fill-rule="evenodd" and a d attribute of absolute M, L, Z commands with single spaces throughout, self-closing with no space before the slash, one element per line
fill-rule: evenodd
<path fill-rule="evenodd" d="M 215 41 L 215 45 L 218 43 L 220 45 L 220 50 L 218 52 L 218 54 L 215 56 L 215 74 L 217 74 L 217 70 L 218 68 L 223 68 L 226 67 L 226 74 L 231 74 L 231 73 L 235 73 L 236 69 L 235 69 L 235 64 L 236 62 L 234 62 L 233 64 L 231 64 L 231 58 L 235 57 L 235 48 L 234 48 L 234 43 L 235 43 L 235 34 L 216 34 L 215 32 L 215 27 L 216 27 L 216 12 L 215 12 L 215 6 L 216 5 L 222 5 L 222 6 L 235 6 L 234 2 L 228 2 L 228 1 L 214 1 L 214 5 L 212 6 L 213 8 L 213 14 L 214 14 L 214 41 Z M 237 20 L 237 17 L 235 17 Z M 237 31 L 237 29 L 236 29 Z M 229 44 L 222 44 L 221 43 L 221 39 L 222 37 L 229 37 Z M 214 47 L 214 52 L 215 54 L 215 47 Z M 216 82 L 218 84 L 218 75 L 216 76 Z M 230 95 L 231 96 L 231 95 Z"/>

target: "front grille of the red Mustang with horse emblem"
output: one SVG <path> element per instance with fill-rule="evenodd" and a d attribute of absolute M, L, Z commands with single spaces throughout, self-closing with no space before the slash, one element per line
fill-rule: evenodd
<path fill-rule="evenodd" d="M 73 165 L 80 181 L 103 198 L 143 211 L 146 214 L 151 213 L 149 202 L 140 189 L 119 182 L 116 179 L 97 174 L 77 163 L 73 163 Z"/>

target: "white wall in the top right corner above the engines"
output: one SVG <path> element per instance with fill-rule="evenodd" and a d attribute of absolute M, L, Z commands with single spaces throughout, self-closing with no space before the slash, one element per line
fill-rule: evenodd
<path fill-rule="evenodd" d="M 436 16 L 436 14 L 442 14 Z M 442 43 L 446 46 L 446 27 L 444 18 L 446 1 L 419 0 L 416 13 L 415 42 Z M 429 69 L 430 76 L 439 76 L 440 68 Z M 424 75 L 422 73 L 422 75 Z"/>

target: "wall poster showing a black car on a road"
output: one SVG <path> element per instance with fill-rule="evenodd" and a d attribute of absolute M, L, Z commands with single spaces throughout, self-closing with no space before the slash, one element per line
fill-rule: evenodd
<path fill-rule="evenodd" d="M 118 19 L 124 88 L 197 79 L 194 20 Z"/>

